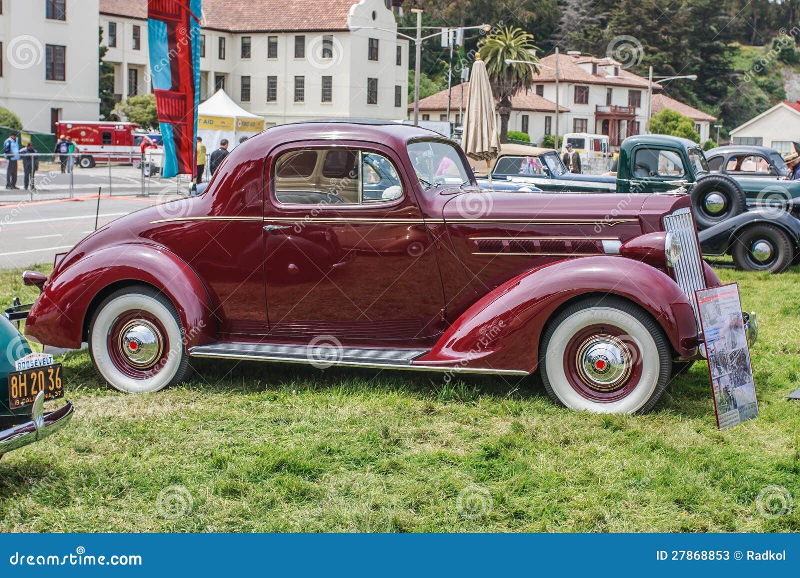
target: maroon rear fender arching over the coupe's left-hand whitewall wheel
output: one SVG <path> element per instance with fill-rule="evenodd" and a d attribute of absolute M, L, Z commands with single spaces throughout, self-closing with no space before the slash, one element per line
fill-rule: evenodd
<path fill-rule="evenodd" d="M 138 283 L 152 285 L 173 302 L 186 349 L 215 340 L 214 308 L 197 273 L 174 253 L 142 243 L 106 247 L 58 270 L 30 309 L 25 333 L 46 345 L 77 349 L 99 301 Z"/>

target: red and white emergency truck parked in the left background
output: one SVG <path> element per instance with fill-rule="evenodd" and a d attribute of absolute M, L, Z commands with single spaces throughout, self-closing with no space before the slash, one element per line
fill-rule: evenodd
<path fill-rule="evenodd" d="M 57 141 L 62 135 L 72 137 L 80 154 L 77 163 L 84 169 L 108 161 L 138 165 L 142 138 L 134 134 L 137 126 L 135 122 L 61 121 L 55 137 Z"/>

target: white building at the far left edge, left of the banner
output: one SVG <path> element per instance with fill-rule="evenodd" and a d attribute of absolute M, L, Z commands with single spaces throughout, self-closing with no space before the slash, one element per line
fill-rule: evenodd
<path fill-rule="evenodd" d="M 27 130 L 97 120 L 98 0 L 2 2 L 0 106 Z"/>

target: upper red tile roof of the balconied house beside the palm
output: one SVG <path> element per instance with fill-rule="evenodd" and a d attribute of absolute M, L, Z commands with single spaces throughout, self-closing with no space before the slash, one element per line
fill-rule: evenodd
<path fill-rule="evenodd" d="M 534 82 L 555 82 L 555 54 L 548 54 L 541 58 L 538 74 L 534 74 Z M 591 70 L 583 70 L 581 65 L 598 65 L 598 74 L 592 74 Z M 606 78 L 607 72 L 599 68 L 600 66 L 616 66 L 618 75 L 614 78 Z M 591 66 L 587 66 L 591 68 Z M 610 58 L 594 58 L 592 56 L 573 56 L 570 54 L 558 55 L 558 81 L 577 82 L 578 84 L 602 84 L 608 86 L 631 86 L 634 88 L 647 88 L 647 79 L 622 68 L 622 64 Z M 658 82 L 653 83 L 654 89 L 660 89 Z"/>

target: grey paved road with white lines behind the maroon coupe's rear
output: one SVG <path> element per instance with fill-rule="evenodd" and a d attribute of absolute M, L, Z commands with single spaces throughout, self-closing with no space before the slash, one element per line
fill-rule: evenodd
<path fill-rule="evenodd" d="M 100 199 L 98 226 L 168 198 L 177 196 L 103 196 Z M 76 195 L 76 200 L 0 205 L 0 268 L 52 263 L 55 253 L 70 249 L 94 230 L 97 202 L 95 194 Z"/>

